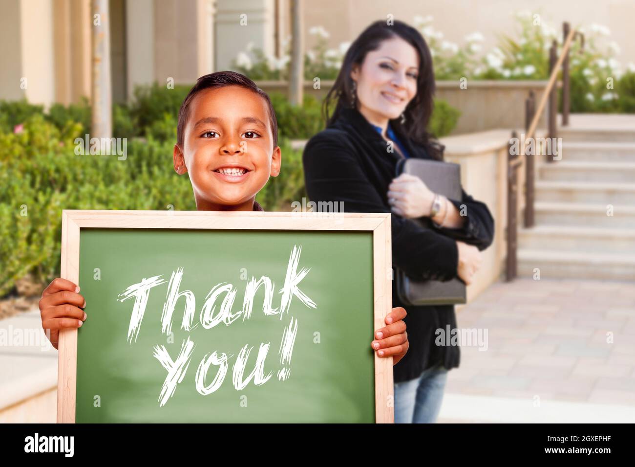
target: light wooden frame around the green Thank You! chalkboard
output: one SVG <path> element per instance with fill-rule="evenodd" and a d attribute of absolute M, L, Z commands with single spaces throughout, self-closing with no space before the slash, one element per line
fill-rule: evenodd
<path fill-rule="evenodd" d="M 116 229 L 246 229 L 372 231 L 374 328 L 392 309 L 389 213 L 63 210 L 61 276 L 79 282 L 79 233 L 83 227 Z M 81 284 L 79 284 L 81 287 Z M 369 337 L 369 343 L 372 336 Z M 60 331 L 57 423 L 75 422 L 77 329 Z M 394 423 L 392 358 L 375 353 L 375 421 Z"/>

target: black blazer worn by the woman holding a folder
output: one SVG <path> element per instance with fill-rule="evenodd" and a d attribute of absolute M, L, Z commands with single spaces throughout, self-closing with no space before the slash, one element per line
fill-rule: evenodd
<path fill-rule="evenodd" d="M 411 158 L 429 159 L 424 147 L 402 134 L 399 140 Z M 388 186 L 395 177 L 398 152 L 387 152 L 387 143 L 356 109 L 345 109 L 337 121 L 309 140 L 303 154 L 307 194 L 312 201 L 343 201 L 345 212 L 391 212 Z M 392 214 L 392 264 L 412 278 L 450 280 L 457 275 L 455 240 L 484 250 L 491 245 L 494 220 L 487 206 L 462 191 L 461 200 L 450 200 L 458 209 L 467 205 L 461 229 L 420 227 Z M 429 219 L 427 219 L 429 221 Z M 428 224 L 431 225 L 431 224 Z M 454 306 L 404 306 L 393 281 L 393 306 L 408 311 L 406 325 L 410 349 L 394 366 L 394 381 L 419 377 L 438 364 L 458 367 L 458 346 L 436 346 L 436 330 L 457 327 Z"/>

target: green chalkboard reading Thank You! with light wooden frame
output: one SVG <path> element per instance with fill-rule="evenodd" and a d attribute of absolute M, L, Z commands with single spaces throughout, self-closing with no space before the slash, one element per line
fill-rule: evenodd
<path fill-rule="evenodd" d="M 295 214 L 295 215 L 294 215 Z M 392 422 L 388 214 L 63 212 L 58 421 Z"/>

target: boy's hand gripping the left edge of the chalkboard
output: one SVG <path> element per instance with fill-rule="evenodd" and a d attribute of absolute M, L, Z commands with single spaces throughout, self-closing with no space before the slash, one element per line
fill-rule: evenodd
<path fill-rule="evenodd" d="M 84 297 L 79 295 L 79 287 L 69 280 L 53 279 L 42 292 L 39 301 L 42 328 L 51 330 L 49 337 L 53 347 L 57 349 L 60 329 L 78 328 L 86 320 Z"/>

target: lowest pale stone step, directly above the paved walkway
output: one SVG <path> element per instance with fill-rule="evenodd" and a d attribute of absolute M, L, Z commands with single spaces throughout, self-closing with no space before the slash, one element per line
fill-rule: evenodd
<path fill-rule="evenodd" d="M 611 255 L 590 252 L 554 252 L 553 250 L 518 250 L 518 275 L 533 277 L 535 268 L 540 279 L 635 280 L 635 255 Z M 625 285 L 632 287 L 632 284 Z"/>

